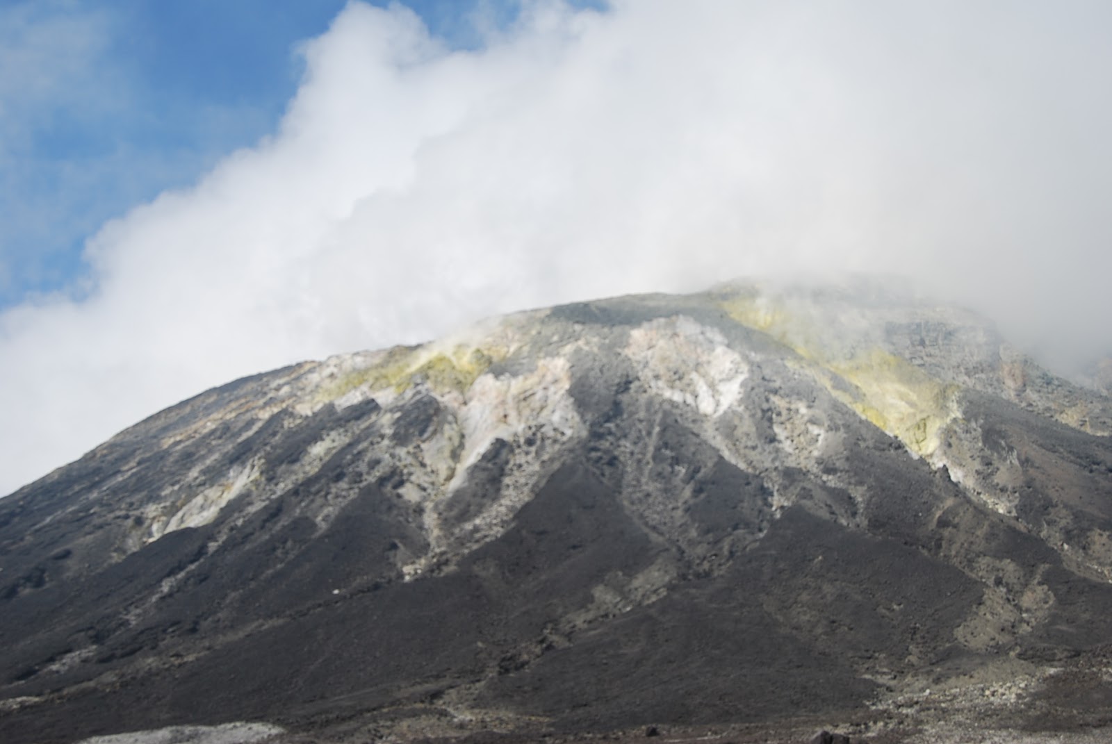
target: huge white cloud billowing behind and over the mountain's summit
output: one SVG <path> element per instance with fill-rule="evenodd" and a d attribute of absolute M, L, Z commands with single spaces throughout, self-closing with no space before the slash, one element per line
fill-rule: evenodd
<path fill-rule="evenodd" d="M 732 275 L 909 272 L 1110 344 L 1109 20 L 536 3 L 451 52 L 353 3 L 272 138 L 106 226 L 85 301 L 0 317 L 0 492 L 238 375 Z"/>

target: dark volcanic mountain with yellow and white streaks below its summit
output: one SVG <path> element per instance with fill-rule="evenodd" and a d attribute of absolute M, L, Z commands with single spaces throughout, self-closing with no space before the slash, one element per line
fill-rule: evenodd
<path fill-rule="evenodd" d="M 0 741 L 1103 725 L 1110 434 L 867 282 L 240 379 L 0 500 Z"/>

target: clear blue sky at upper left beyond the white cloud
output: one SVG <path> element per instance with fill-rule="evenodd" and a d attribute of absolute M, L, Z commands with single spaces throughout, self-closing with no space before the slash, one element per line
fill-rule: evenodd
<path fill-rule="evenodd" d="M 386 6 L 386 2 L 374 4 Z M 410 0 L 450 48 L 513 0 Z M 579 2 L 573 4 L 593 4 Z M 0 309 L 80 295 L 85 240 L 271 133 L 344 0 L 0 1 Z"/>

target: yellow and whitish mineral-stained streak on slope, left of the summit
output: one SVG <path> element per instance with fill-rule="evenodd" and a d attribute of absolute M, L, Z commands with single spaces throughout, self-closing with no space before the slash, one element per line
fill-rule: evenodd
<path fill-rule="evenodd" d="M 404 495 L 428 507 L 423 518 L 430 549 L 403 567 L 407 579 L 446 555 L 461 555 L 500 535 L 563 447 L 584 434 L 568 393 L 570 347 L 537 358 L 529 371 L 490 371 L 529 341 L 544 315 L 523 313 L 480 323 L 423 346 L 364 355 L 354 364 L 336 359 L 336 374 L 316 390 L 314 406 L 329 401 L 346 407 L 374 398 L 389 414 L 414 395 L 427 393 L 448 411 L 449 423 L 415 445 L 419 457 L 399 453 L 398 462 L 415 468 L 408 473 Z M 467 483 L 470 468 L 497 439 L 513 445 L 500 493 L 478 516 L 446 526 L 439 509 Z"/>

